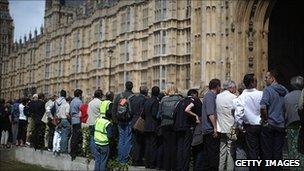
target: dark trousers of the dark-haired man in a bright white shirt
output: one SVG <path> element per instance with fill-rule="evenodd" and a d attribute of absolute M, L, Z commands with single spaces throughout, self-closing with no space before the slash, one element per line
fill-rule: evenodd
<path fill-rule="evenodd" d="M 258 160 L 261 152 L 261 126 L 245 125 L 245 130 L 247 158 L 249 160 Z M 250 167 L 250 170 L 258 170 L 258 167 Z"/>

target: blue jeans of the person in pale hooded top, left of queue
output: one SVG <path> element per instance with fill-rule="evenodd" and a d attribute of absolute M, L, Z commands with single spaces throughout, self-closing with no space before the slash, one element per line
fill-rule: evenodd
<path fill-rule="evenodd" d="M 60 125 L 61 125 L 60 152 L 61 153 L 68 153 L 70 123 L 67 119 L 61 119 Z"/>

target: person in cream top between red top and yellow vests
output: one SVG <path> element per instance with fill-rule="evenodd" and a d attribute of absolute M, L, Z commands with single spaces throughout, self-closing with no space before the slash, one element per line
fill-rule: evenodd
<path fill-rule="evenodd" d="M 98 151 L 96 150 L 94 143 L 94 126 L 96 123 L 96 119 L 100 116 L 99 107 L 101 104 L 101 99 L 103 96 L 102 90 L 98 89 L 94 92 L 94 98 L 88 104 L 88 124 L 89 124 L 89 132 L 90 132 L 90 151 L 95 160 L 98 155 Z"/>

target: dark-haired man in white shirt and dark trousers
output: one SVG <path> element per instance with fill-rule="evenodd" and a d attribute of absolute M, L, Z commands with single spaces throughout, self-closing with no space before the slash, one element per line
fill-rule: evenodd
<path fill-rule="evenodd" d="M 239 126 L 243 126 L 246 131 L 245 137 L 248 146 L 248 159 L 256 160 L 259 159 L 260 156 L 260 101 L 263 92 L 256 89 L 257 80 L 254 74 L 246 74 L 243 83 L 246 89 L 237 99 L 235 121 Z"/>

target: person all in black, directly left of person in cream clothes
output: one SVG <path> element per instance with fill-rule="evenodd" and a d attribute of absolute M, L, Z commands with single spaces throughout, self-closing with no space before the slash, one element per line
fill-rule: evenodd
<path fill-rule="evenodd" d="M 42 117 L 45 113 L 44 94 L 38 94 L 38 100 L 29 103 L 29 112 L 33 116 L 34 131 L 32 135 L 32 143 L 34 149 L 43 149 L 45 147 L 44 135 L 46 125 L 42 122 Z"/>

